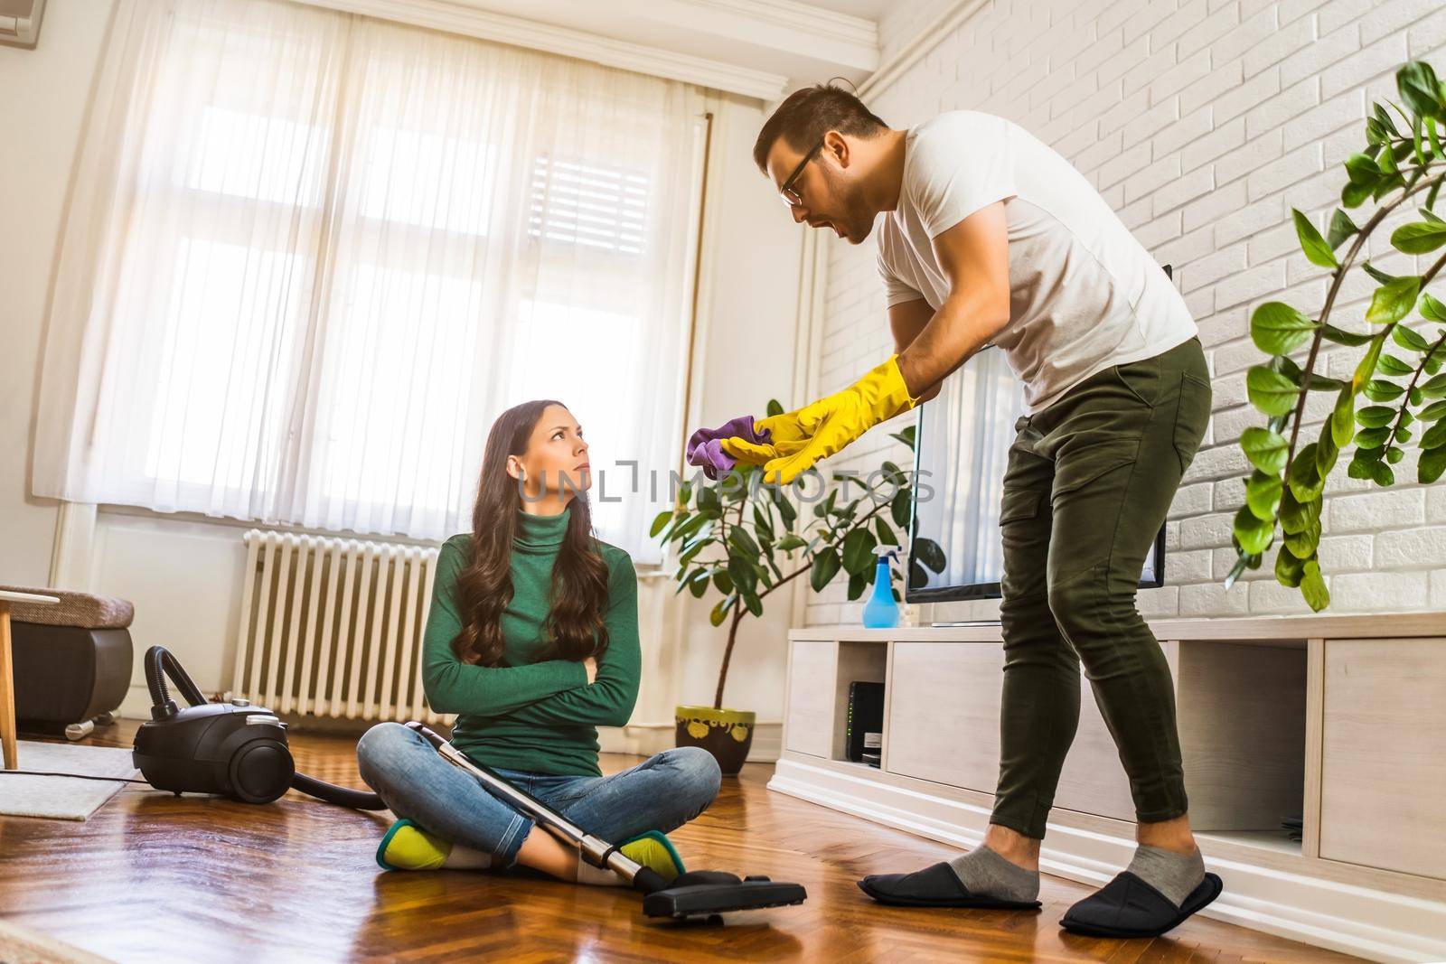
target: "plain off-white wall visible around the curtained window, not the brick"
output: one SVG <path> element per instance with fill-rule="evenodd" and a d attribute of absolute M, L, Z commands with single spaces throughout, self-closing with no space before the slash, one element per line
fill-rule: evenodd
<path fill-rule="evenodd" d="M 6 335 L 0 438 L 14 452 L 29 452 L 33 441 L 58 233 L 108 13 L 110 4 L 97 0 L 51 0 L 36 51 L 0 48 L 0 184 L 9 188 L 0 191 L 0 319 Z M 716 179 L 707 231 L 713 257 L 704 272 L 703 366 L 694 374 L 701 387 L 697 423 L 761 412 L 771 395 L 787 396 L 801 244 L 801 233 L 750 160 L 761 106 L 727 97 L 719 98 L 714 113 L 720 163 L 710 172 Z M 768 348 L 759 351 L 759 345 Z M 0 539 L 0 582 L 45 585 L 58 504 L 27 497 L 29 475 L 27 458 L 0 464 L 6 533 Z M 246 525 L 101 507 L 88 559 L 69 585 L 134 603 L 137 660 L 147 646 L 159 643 L 176 653 L 204 691 L 226 689 L 236 655 Z M 645 580 L 642 585 L 645 614 L 649 607 L 661 610 L 664 629 L 658 639 L 643 640 L 649 665 L 635 723 L 655 730 L 659 740 L 665 734 L 668 744 L 674 704 L 713 700 L 723 646 L 722 632 L 707 621 L 711 603 L 672 595 L 668 580 Z M 779 718 L 790 611 L 791 600 L 769 606 L 765 620 L 746 624 L 735 652 L 730 702 L 756 710 L 761 721 Z M 681 637 L 672 637 L 674 627 L 681 627 Z M 143 714 L 146 705 L 137 669 L 126 710 Z M 630 746 L 646 747 L 649 741 Z M 768 749 L 765 737 L 761 750 Z"/>

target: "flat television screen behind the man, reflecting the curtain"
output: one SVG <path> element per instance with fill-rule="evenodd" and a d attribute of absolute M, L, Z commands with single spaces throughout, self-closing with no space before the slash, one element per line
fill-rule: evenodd
<path fill-rule="evenodd" d="M 1024 387 L 999 348 L 977 353 L 944 379 L 937 397 L 918 408 L 917 528 L 905 580 L 910 603 L 999 595 L 999 499 L 1021 415 Z M 1141 587 L 1161 585 L 1163 574 L 1164 529 L 1145 558 Z"/>

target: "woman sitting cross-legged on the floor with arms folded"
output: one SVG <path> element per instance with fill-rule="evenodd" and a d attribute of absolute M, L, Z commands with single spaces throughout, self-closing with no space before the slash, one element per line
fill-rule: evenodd
<path fill-rule="evenodd" d="M 638 580 L 632 559 L 591 538 L 583 429 L 560 402 L 526 402 L 492 426 L 471 533 L 437 559 L 422 685 L 455 713 L 453 744 L 664 879 L 683 863 L 665 831 L 701 814 L 719 766 L 697 747 L 622 773 L 597 767 L 599 726 L 638 700 Z M 508 869 L 620 885 L 577 848 L 489 793 L 398 723 L 357 744 L 362 778 L 399 819 L 377 848 L 388 870 Z"/>

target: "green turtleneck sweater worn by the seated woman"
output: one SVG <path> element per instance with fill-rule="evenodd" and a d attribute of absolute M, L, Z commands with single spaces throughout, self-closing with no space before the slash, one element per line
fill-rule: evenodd
<path fill-rule="evenodd" d="M 535 516 L 518 510 L 512 541 L 512 601 L 502 611 L 502 660 L 476 666 L 457 659 L 461 632 L 457 575 L 471 558 L 471 535 L 442 543 L 427 616 L 422 685 L 437 713 L 455 713 L 451 741 L 484 766 L 529 773 L 600 776 L 597 727 L 620 727 L 638 700 L 638 575 L 632 558 L 596 541 L 607 562 L 609 645 L 589 685 L 580 662 L 552 659 L 542 624 L 552 564 L 567 532 L 567 510 Z"/>

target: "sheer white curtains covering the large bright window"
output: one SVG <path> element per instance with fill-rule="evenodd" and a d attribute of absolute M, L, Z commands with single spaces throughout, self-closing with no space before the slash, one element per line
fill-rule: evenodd
<path fill-rule="evenodd" d="M 496 415 L 555 397 L 603 475 L 599 533 L 656 561 L 667 486 L 649 499 L 645 474 L 678 462 L 700 104 L 289 3 L 120 4 L 35 493 L 445 538 Z"/>

